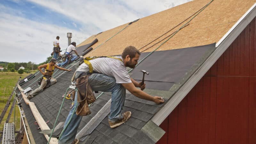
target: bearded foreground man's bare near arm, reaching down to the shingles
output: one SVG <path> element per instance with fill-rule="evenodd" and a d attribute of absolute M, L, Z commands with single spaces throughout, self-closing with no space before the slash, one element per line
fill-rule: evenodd
<path fill-rule="evenodd" d="M 124 88 L 126 88 L 129 92 L 131 92 L 133 95 L 135 95 L 138 98 L 144 99 L 144 100 L 150 100 L 154 101 L 156 104 L 160 104 L 164 102 L 164 99 L 158 96 L 151 96 L 147 94 L 146 92 L 141 91 L 140 89 L 137 89 L 133 83 L 128 84 L 122 84 Z"/>

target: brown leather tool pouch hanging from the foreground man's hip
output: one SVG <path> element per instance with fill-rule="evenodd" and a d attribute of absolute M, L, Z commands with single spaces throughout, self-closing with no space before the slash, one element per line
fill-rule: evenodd
<path fill-rule="evenodd" d="M 96 100 L 90 84 L 88 83 L 88 77 L 90 75 L 82 76 L 76 80 L 77 88 L 77 102 L 79 103 L 76 109 L 76 115 L 86 116 L 91 114 L 88 104 L 91 104 Z"/>

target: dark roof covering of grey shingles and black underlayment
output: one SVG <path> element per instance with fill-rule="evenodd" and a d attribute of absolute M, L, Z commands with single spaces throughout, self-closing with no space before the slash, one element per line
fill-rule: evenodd
<path fill-rule="evenodd" d="M 79 47 L 77 49 L 79 49 Z M 182 84 L 182 82 L 185 82 L 189 77 L 189 74 L 199 68 L 202 62 L 206 60 L 213 50 L 215 50 L 215 44 L 154 52 L 132 70 L 131 77 L 140 81 L 142 73 L 139 69 L 146 70 L 149 72 L 149 75 L 145 76 L 147 89 L 144 91 L 154 96 L 164 97 L 164 100 L 167 101 L 175 92 L 173 85 L 179 85 Z M 79 52 L 81 52 L 81 50 Z M 140 60 L 146 55 L 148 55 L 148 53 L 142 53 Z M 72 64 L 65 66 L 65 68 L 72 68 L 72 71 L 70 72 L 56 70 L 53 77 L 57 79 L 57 83 L 46 88 L 43 92 L 30 100 L 36 104 L 36 107 L 44 120 L 50 121 L 48 123 L 50 128 L 53 127 L 58 114 L 63 99 L 62 95 L 71 84 L 71 77 L 77 67 L 78 62 L 73 62 Z M 27 86 L 31 86 L 32 89 L 37 88 L 37 82 L 33 82 L 40 76 L 40 73 L 37 74 L 33 79 L 23 84 L 22 88 L 24 89 Z M 95 96 L 97 97 L 99 94 L 100 93 L 97 93 Z M 78 132 L 97 114 L 98 111 L 100 111 L 110 98 L 111 93 L 106 92 L 95 101 L 90 107 L 92 114 L 83 117 Z M 23 102 L 23 100 L 21 102 Z M 71 103 L 72 100 L 65 100 L 57 124 L 66 120 Z M 152 101 L 137 98 L 127 92 L 123 111 L 131 111 L 131 118 L 125 124 L 112 129 L 108 125 L 108 116 L 106 116 L 89 136 L 79 138 L 79 140 L 84 140 L 85 138 L 85 140 L 80 141 L 80 143 L 155 143 L 157 139 L 155 140 L 150 136 L 150 132 L 148 132 L 145 126 L 148 124 L 150 127 L 150 119 L 163 105 L 164 104 L 156 105 Z M 31 113 L 29 106 L 26 105 L 25 102 L 22 103 L 22 106 L 36 143 L 47 143 L 44 135 L 38 133 L 41 130 L 37 130 L 38 125 L 34 124 L 36 120 Z M 156 135 L 156 133 L 153 133 L 152 135 Z"/>

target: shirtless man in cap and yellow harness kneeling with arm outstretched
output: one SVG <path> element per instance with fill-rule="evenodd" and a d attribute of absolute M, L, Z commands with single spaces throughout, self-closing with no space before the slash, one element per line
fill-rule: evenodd
<path fill-rule="evenodd" d="M 55 84 L 57 82 L 57 80 L 55 78 L 52 77 L 53 74 L 53 70 L 54 68 L 58 68 L 60 70 L 66 70 L 66 71 L 71 71 L 72 69 L 65 69 L 65 68 L 60 68 L 57 65 L 55 65 L 57 63 L 57 60 L 52 58 L 50 63 L 47 64 L 43 64 L 41 66 L 38 67 L 39 71 L 44 75 L 42 80 L 41 80 L 41 84 L 40 87 L 38 87 L 37 89 L 35 89 L 35 91 L 31 92 L 28 95 L 28 99 L 33 98 L 35 95 L 37 95 L 39 92 L 41 92 L 47 85 L 52 85 Z M 44 72 L 42 71 L 41 68 L 44 68 Z"/>

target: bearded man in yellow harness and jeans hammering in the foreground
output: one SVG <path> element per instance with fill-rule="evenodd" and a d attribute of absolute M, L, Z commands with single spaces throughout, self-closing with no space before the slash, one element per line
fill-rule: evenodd
<path fill-rule="evenodd" d="M 140 51 L 134 46 L 128 46 L 124 49 L 122 56 L 96 58 L 90 60 L 91 65 L 89 64 L 88 66 L 83 63 L 76 70 L 75 79 L 84 75 L 90 75 L 88 77 L 88 82 L 93 91 L 112 92 L 110 115 L 108 116 L 108 123 L 111 128 L 123 124 L 132 115 L 130 111 L 122 113 L 126 89 L 141 99 L 154 101 L 156 104 L 164 102 L 164 99 L 161 97 L 151 96 L 146 92 L 143 92 L 142 90 L 145 89 L 146 84 L 141 85 L 141 83 L 136 82 L 129 76 L 126 67 L 135 68 L 139 58 Z M 92 72 L 92 70 L 93 73 L 91 74 L 90 71 Z M 140 87 L 142 90 L 137 89 L 136 87 Z M 74 106 L 76 106 L 76 103 L 77 92 L 75 95 Z M 68 123 L 74 108 L 75 107 L 70 110 L 64 127 Z M 75 137 L 81 119 L 82 116 L 76 114 L 73 115 L 66 130 L 59 139 L 60 144 L 72 143 L 73 140 L 73 143 L 78 141 Z"/>

